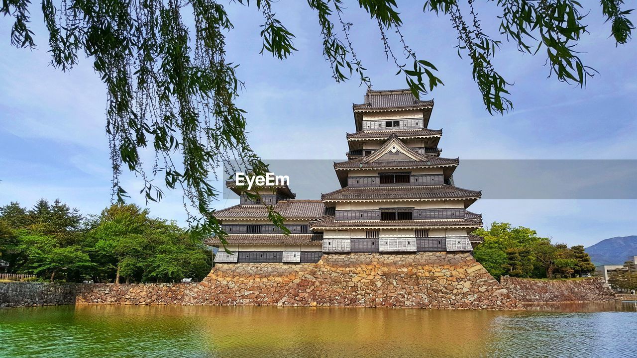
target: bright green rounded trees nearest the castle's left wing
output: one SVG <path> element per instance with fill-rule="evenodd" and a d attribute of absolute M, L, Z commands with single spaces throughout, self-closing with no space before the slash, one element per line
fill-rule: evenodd
<path fill-rule="evenodd" d="M 99 224 L 87 233 L 92 261 L 101 276 L 115 283 L 201 279 L 211 258 L 203 243 L 192 240 L 174 222 L 150 218 L 134 204 L 114 204 L 102 211 Z M 99 279 L 98 279 L 99 280 Z"/>

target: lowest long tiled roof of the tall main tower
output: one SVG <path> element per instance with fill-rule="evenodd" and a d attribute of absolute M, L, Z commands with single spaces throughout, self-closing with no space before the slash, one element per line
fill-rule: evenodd
<path fill-rule="evenodd" d="M 479 227 L 482 220 L 451 219 L 451 220 L 357 220 L 357 221 L 336 221 L 334 217 L 326 217 L 315 222 L 310 222 L 313 229 L 330 228 L 426 228 L 426 227 Z"/>

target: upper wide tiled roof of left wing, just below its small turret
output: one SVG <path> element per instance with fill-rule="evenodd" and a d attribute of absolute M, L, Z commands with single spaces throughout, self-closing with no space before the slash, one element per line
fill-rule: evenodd
<path fill-rule="evenodd" d="M 287 219 L 315 219 L 326 215 L 325 204 L 320 200 L 287 199 L 276 203 L 278 213 Z M 218 219 L 249 218 L 268 219 L 268 210 L 265 205 L 235 205 L 223 210 L 215 211 L 213 215 Z"/>

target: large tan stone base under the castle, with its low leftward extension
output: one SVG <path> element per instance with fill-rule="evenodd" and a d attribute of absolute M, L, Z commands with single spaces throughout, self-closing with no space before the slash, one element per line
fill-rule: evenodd
<path fill-rule="evenodd" d="M 217 264 L 200 283 L 82 285 L 76 303 L 520 309 L 470 254 L 433 252 Z"/>

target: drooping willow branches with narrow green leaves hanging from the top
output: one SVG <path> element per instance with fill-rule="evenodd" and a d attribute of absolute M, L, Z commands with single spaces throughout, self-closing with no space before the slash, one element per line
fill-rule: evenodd
<path fill-rule="evenodd" d="M 249 0 L 238 4 L 250 5 Z M 474 0 L 424 0 L 426 14 L 444 15 L 457 32 L 458 54 L 471 61 L 472 76 L 489 113 L 512 108 L 508 99 L 510 83 L 497 73 L 492 59 L 503 44 L 482 30 Z M 502 15 L 491 19 L 520 52 L 547 55 L 550 75 L 561 82 L 583 86 L 596 71 L 583 64 L 576 44 L 587 31 L 584 24 L 590 9 L 575 0 L 495 2 Z M 634 29 L 631 10 L 622 0 L 601 0 L 601 12 L 610 22 L 617 45 L 627 43 Z M 273 1 L 252 4 L 264 17 L 261 52 L 286 59 L 296 48 L 294 34 L 275 17 Z M 403 20 L 394 0 L 359 0 L 371 21 L 378 23 L 388 61 L 397 75 L 404 76 L 412 93 L 419 97 L 442 82 L 436 67 L 408 46 L 401 32 Z M 371 84 L 362 61 L 350 41 L 352 25 L 345 18 L 342 0 L 309 0 L 317 13 L 323 39 L 323 55 L 333 69 L 336 82 L 354 73 L 361 83 Z M 252 151 L 245 136 L 245 111 L 236 106 L 243 82 L 236 76 L 236 64 L 225 59 L 225 32 L 233 24 L 225 7 L 216 1 L 43 0 L 41 9 L 48 29 L 51 64 L 67 71 L 78 57 L 89 57 L 106 85 L 108 99 L 106 132 L 110 139 L 113 166 L 113 196 L 123 201 L 126 190 L 120 185 L 122 166 L 143 178 L 147 200 L 162 198 L 162 189 L 152 182 L 152 171 L 163 175 L 168 189 L 180 188 L 190 215 L 190 225 L 200 234 L 215 234 L 225 244 L 222 230 L 211 210 L 218 193 L 210 178 L 223 162 L 236 171 L 234 159 L 243 168 L 262 175 L 267 167 Z M 29 29 L 29 1 L 4 0 L 5 17 L 13 17 L 11 43 L 34 48 Z M 464 15 L 463 15 L 464 12 Z M 466 15 L 468 12 L 469 15 Z M 190 31 L 184 15 L 192 15 Z M 338 19 L 338 20 L 337 20 Z M 389 32 L 396 32 L 394 39 Z M 403 61 L 394 54 L 396 44 L 404 52 Z M 80 54 L 78 54 L 80 53 Z M 140 148 L 152 145 L 157 161 L 148 168 L 140 158 Z M 174 157 L 177 152 L 179 155 Z M 180 164 L 176 164 L 180 158 Z M 244 171 L 248 171 L 245 169 Z M 276 225 L 281 217 L 269 207 Z"/>

